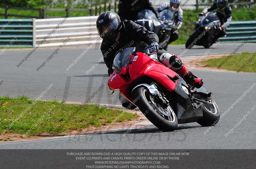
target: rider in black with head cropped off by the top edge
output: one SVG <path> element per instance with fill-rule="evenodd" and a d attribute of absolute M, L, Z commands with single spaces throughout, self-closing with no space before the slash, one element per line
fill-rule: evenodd
<path fill-rule="evenodd" d="M 151 0 L 120 0 L 118 4 L 118 15 L 120 16 L 121 21 L 135 21 L 138 13 L 145 9 L 154 12 L 156 17 L 161 19 Z"/>

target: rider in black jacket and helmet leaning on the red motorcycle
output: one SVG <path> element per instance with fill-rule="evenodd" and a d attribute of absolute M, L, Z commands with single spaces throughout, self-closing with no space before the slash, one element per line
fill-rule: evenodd
<path fill-rule="evenodd" d="M 109 76 L 113 73 L 112 66 L 116 54 L 126 48 L 136 47 L 137 52 L 157 53 L 157 58 L 152 59 L 158 59 L 159 62 L 178 73 L 185 81 L 196 88 L 203 85 L 203 79 L 190 72 L 188 67 L 181 62 L 179 56 L 158 51 L 158 36 L 154 32 L 149 32 L 145 27 L 131 20 L 121 22 L 120 17 L 113 11 L 100 14 L 96 26 L 100 37 L 103 39 L 100 49 L 108 67 Z M 119 100 L 124 107 L 130 104 L 121 95 L 119 95 Z"/>

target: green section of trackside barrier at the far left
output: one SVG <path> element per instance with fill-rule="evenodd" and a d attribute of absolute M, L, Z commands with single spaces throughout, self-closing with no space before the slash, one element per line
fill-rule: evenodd
<path fill-rule="evenodd" d="M 35 19 L 0 19 L 0 47 L 35 46 L 33 25 Z"/>

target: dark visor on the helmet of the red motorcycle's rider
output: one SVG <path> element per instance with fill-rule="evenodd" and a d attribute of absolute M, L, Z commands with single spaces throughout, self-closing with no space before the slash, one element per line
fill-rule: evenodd
<path fill-rule="evenodd" d="M 115 18 L 109 24 L 105 24 L 103 26 L 97 27 L 98 33 L 102 39 L 107 38 L 108 36 L 112 35 L 116 29 L 118 28 L 118 19 Z"/>

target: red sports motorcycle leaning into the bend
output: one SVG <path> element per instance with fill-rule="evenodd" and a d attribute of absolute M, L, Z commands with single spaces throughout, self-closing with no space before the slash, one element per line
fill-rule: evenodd
<path fill-rule="evenodd" d="M 130 47 L 116 55 L 108 80 L 110 89 L 119 90 L 163 131 L 175 130 L 178 123 L 218 123 L 220 110 L 212 92 L 190 86 L 177 73 L 135 49 Z"/>

